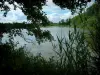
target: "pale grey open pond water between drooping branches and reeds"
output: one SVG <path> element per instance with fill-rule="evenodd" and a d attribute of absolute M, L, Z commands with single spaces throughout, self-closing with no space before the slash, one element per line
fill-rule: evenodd
<path fill-rule="evenodd" d="M 54 37 L 54 41 L 52 41 L 52 43 L 55 45 L 58 44 L 57 36 L 59 38 L 64 37 L 68 39 L 69 30 L 73 30 L 72 28 L 68 28 L 68 27 L 46 27 L 46 28 L 41 28 L 41 29 L 50 31 L 50 33 Z M 19 41 L 18 46 L 23 46 L 24 44 L 26 44 L 27 50 L 29 50 L 34 55 L 41 53 L 44 57 L 49 57 L 55 54 L 53 51 L 53 46 L 51 42 L 45 41 L 39 45 L 35 39 L 35 36 L 28 36 L 25 31 L 23 31 L 23 33 L 24 33 L 25 38 L 30 39 L 31 41 L 33 41 L 33 43 L 27 43 L 23 40 L 23 38 L 17 36 L 16 38 L 14 38 L 14 41 L 15 42 Z M 7 40 L 7 37 L 3 39 Z"/>

